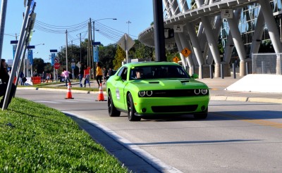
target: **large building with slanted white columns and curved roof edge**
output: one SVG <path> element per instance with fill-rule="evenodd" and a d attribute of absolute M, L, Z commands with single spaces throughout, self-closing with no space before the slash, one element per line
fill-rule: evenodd
<path fill-rule="evenodd" d="M 265 30 L 275 53 L 282 53 L 275 3 L 277 0 L 196 0 L 189 8 L 186 0 L 163 0 L 165 35 L 166 31 L 174 30 L 174 37 L 165 40 L 166 49 L 178 52 L 188 49 L 191 52 L 188 56 L 180 53 L 183 66 L 200 78 L 210 77 L 211 72 L 214 77 L 231 76 L 231 57 L 235 51 L 240 76 L 245 76 L 247 69 L 252 68 L 252 54 L 259 52 Z M 276 15 L 280 16 L 280 12 Z M 248 38 L 239 28 L 240 18 L 250 20 L 243 26 L 250 30 Z M 219 38 L 223 40 L 223 55 L 219 51 Z M 154 46 L 154 25 L 142 31 L 138 39 Z M 277 62 L 281 63 L 281 59 Z"/>

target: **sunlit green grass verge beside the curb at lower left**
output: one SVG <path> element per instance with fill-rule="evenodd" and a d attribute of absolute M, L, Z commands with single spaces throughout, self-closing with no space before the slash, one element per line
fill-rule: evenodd
<path fill-rule="evenodd" d="M 13 98 L 0 110 L 0 172 L 127 172 L 71 117 Z"/>

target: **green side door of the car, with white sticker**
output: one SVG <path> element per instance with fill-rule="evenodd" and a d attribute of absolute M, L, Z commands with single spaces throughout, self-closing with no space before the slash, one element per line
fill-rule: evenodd
<path fill-rule="evenodd" d="M 116 101 L 114 102 L 114 105 L 116 108 L 121 108 L 123 110 L 126 110 L 126 96 L 125 96 L 125 85 L 128 83 L 127 76 L 128 76 L 128 68 L 124 67 L 118 72 L 118 76 L 121 76 L 121 80 L 116 81 L 115 83 L 115 95 L 116 95 Z"/>

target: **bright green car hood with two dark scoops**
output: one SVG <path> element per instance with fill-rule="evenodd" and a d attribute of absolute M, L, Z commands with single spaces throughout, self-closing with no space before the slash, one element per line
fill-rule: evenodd
<path fill-rule="evenodd" d="M 207 85 L 195 79 L 140 79 L 131 82 L 139 89 L 208 89 Z"/>

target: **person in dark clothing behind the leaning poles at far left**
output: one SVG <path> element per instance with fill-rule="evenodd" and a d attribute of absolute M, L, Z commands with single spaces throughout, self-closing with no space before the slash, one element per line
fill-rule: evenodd
<path fill-rule="evenodd" d="M 0 97 L 2 97 L 1 101 L 0 101 L 0 108 L 3 107 L 4 104 L 4 99 L 5 99 L 5 95 L 6 95 L 6 91 L 8 88 L 8 80 L 10 78 L 10 76 L 8 75 L 8 70 L 7 70 L 7 64 L 6 64 L 6 60 L 5 59 L 1 59 L 1 63 L 0 63 Z M 11 103 L 12 97 L 15 94 L 16 91 L 16 86 L 15 84 L 12 84 L 11 86 L 11 91 L 10 94 L 8 96 L 8 104 L 7 104 L 7 108 L 8 105 Z"/>

